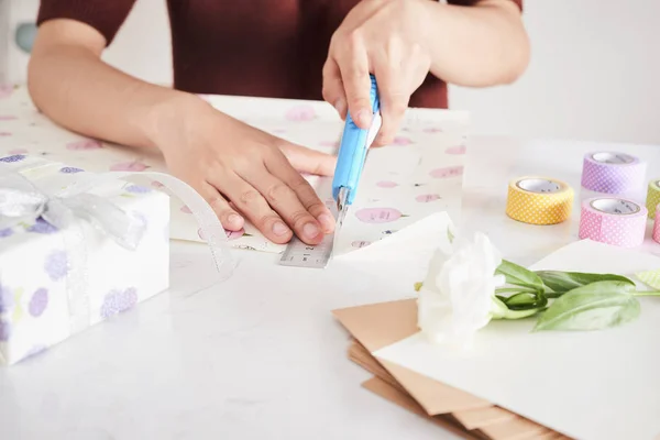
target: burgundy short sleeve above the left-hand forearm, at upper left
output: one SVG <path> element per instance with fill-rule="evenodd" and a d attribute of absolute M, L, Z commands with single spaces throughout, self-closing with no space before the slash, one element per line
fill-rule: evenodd
<path fill-rule="evenodd" d="M 90 25 L 110 45 L 131 12 L 135 0 L 41 0 L 36 24 L 54 19 L 70 19 Z"/>

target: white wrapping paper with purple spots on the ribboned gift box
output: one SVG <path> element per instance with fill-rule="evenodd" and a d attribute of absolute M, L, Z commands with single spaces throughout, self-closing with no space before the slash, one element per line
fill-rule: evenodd
<path fill-rule="evenodd" d="M 3 160 L 16 166 L 30 161 L 34 166 L 21 174 L 38 186 L 67 188 L 85 173 L 21 155 Z M 1 229 L 0 363 L 21 361 L 168 287 L 168 197 L 125 180 L 103 182 L 86 194 L 140 219 L 145 226 L 141 241 L 134 250 L 123 248 L 79 218 L 63 230 L 41 217 Z M 76 278 L 85 282 L 74 287 L 84 294 L 77 304 L 72 302 L 74 271 L 85 275 Z"/>

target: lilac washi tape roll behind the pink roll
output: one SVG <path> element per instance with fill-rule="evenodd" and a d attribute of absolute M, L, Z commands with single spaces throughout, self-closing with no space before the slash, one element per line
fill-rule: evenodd
<path fill-rule="evenodd" d="M 587 153 L 582 164 L 582 186 L 605 194 L 642 191 L 647 164 L 626 153 Z"/>

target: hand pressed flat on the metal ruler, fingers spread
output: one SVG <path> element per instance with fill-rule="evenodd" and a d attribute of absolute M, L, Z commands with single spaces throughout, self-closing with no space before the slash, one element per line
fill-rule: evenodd
<path fill-rule="evenodd" d="M 161 112 L 154 141 L 169 172 L 205 197 L 224 229 L 238 231 L 249 220 L 275 243 L 286 243 L 295 233 L 311 245 L 333 232 L 333 216 L 300 175 L 332 175 L 333 156 L 190 98 Z"/>

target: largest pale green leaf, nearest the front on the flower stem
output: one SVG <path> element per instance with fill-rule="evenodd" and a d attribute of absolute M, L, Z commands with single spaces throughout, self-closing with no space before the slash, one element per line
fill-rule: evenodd
<path fill-rule="evenodd" d="M 620 326 L 639 316 L 635 285 L 604 280 L 572 289 L 554 300 L 537 321 L 534 331 L 600 330 Z"/>

